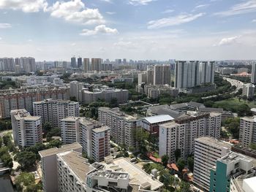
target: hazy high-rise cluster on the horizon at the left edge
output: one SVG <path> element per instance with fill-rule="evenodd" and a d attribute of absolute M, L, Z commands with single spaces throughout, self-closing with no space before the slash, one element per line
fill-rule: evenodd
<path fill-rule="evenodd" d="M 37 66 L 34 58 L 0 58 L 0 71 L 15 73 L 36 72 Z"/>

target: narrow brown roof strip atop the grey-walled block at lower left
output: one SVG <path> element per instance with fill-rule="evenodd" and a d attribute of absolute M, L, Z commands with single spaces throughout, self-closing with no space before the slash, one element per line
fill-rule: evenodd
<path fill-rule="evenodd" d="M 41 156 L 41 158 L 44 158 L 50 155 L 56 155 L 58 153 L 63 153 L 69 150 L 78 150 L 78 149 L 82 149 L 82 146 L 78 142 L 74 142 L 72 144 L 62 145 L 62 147 L 59 147 L 59 148 L 54 147 L 48 150 L 41 150 L 38 153 Z"/>

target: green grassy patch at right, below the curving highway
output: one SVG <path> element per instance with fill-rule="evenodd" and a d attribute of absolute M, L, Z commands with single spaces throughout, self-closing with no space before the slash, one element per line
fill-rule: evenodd
<path fill-rule="evenodd" d="M 216 101 L 214 107 L 221 107 L 225 110 L 237 110 L 242 104 L 248 104 L 250 108 L 256 107 L 256 101 L 244 101 L 243 99 L 239 101 L 236 98 Z"/>

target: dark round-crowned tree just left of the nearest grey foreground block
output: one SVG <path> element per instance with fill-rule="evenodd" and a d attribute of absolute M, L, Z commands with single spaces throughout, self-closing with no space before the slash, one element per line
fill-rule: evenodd
<path fill-rule="evenodd" d="M 15 161 L 18 161 L 21 169 L 28 169 L 34 166 L 37 161 L 37 155 L 31 151 L 21 151 L 15 155 Z"/>

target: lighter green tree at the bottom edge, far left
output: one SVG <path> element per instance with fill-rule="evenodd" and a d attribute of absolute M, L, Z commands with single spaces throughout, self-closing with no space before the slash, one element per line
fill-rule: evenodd
<path fill-rule="evenodd" d="M 34 185 L 35 178 L 34 174 L 22 172 L 16 179 L 15 184 L 18 191 L 23 191 L 23 188 L 28 187 L 29 185 Z M 31 187 L 29 187 L 30 190 Z"/>

